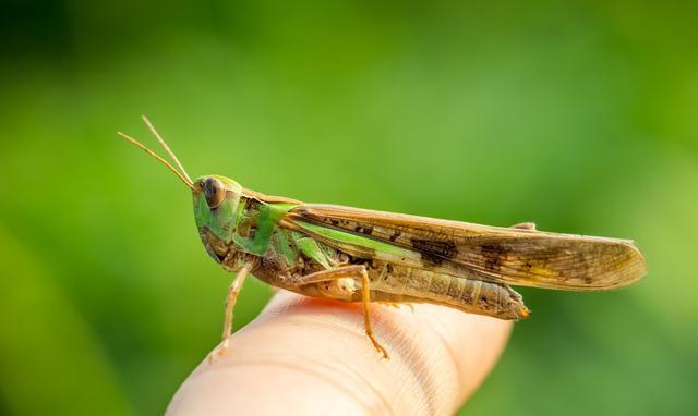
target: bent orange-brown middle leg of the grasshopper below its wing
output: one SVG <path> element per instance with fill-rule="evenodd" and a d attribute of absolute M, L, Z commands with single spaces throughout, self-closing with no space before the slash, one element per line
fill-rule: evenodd
<path fill-rule="evenodd" d="M 322 283 L 322 282 L 330 282 L 337 281 L 339 279 L 360 279 L 361 280 L 361 303 L 363 305 L 363 322 L 365 326 L 366 337 L 371 340 L 373 346 L 378 351 L 378 353 L 383 354 L 385 359 L 389 359 L 387 351 L 378 343 L 373 334 L 373 328 L 371 326 L 371 281 L 369 279 L 369 272 L 366 271 L 365 266 L 362 265 L 352 265 L 352 266 L 342 266 L 336 269 L 329 270 L 321 270 L 311 274 L 301 276 L 293 279 L 293 283 L 300 289 L 302 286 Z"/>

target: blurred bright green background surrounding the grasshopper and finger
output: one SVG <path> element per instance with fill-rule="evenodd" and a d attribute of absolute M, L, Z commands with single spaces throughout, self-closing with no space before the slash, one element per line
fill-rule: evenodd
<path fill-rule="evenodd" d="M 661 5 L 659 5 L 661 3 Z M 522 290 L 462 414 L 698 412 L 696 2 L 21 1 L 0 15 L 0 414 L 161 413 L 230 277 L 193 175 L 630 237 L 650 274 Z M 236 326 L 268 297 L 248 281 Z"/>

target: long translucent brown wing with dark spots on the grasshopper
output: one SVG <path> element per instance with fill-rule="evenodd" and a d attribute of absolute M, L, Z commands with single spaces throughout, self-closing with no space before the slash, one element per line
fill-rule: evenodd
<path fill-rule="evenodd" d="M 348 231 L 420 254 L 425 268 L 537 287 L 594 291 L 646 274 L 628 240 L 479 225 L 333 205 L 301 205 L 289 219 Z"/>

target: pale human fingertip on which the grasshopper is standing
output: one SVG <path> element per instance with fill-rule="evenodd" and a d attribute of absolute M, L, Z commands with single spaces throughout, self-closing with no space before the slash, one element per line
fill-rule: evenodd
<path fill-rule="evenodd" d="M 179 388 L 167 415 L 449 415 L 490 372 L 512 323 L 448 307 L 360 304 L 279 291 Z"/>

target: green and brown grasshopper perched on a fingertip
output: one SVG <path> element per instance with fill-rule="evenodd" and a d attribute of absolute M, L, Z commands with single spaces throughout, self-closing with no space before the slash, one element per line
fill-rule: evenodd
<path fill-rule="evenodd" d="M 233 308 L 248 276 L 305 296 L 360 302 L 365 334 L 388 358 L 371 326 L 372 303 L 429 303 L 519 320 L 530 310 L 512 285 L 605 291 L 647 273 L 645 257 L 630 240 L 542 232 L 531 222 L 490 227 L 305 204 L 215 174 L 192 180 L 145 115 L 143 121 L 177 168 L 136 139 L 119 136 L 191 189 L 206 252 L 236 274 L 219 355 L 228 348 Z"/>

